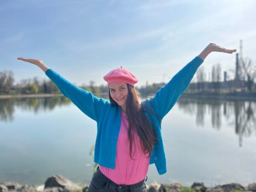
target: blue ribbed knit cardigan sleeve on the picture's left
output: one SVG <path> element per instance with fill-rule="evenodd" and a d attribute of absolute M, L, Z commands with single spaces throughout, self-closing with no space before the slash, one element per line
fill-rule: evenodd
<path fill-rule="evenodd" d="M 91 92 L 77 87 L 52 69 L 46 70 L 45 74 L 56 84 L 64 96 L 95 121 L 98 121 L 100 111 L 110 105 L 109 100 L 98 98 Z"/>

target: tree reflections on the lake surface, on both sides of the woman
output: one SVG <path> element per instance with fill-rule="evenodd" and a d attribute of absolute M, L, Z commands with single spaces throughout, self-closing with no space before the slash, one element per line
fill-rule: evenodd
<path fill-rule="evenodd" d="M 41 111 L 52 111 L 56 106 L 70 104 L 70 99 L 64 96 L 0 99 L 0 120 L 12 122 L 15 108 L 37 114 Z M 212 128 L 220 130 L 221 118 L 225 118 L 228 125 L 235 128 L 235 133 L 239 136 L 239 146 L 242 146 L 242 137 L 250 137 L 256 130 L 256 102 L 180 98 L 176 105 L 184 113 L 196 114 L 197 126 L 204 127 L 205 115 L 209 113 Z"/>

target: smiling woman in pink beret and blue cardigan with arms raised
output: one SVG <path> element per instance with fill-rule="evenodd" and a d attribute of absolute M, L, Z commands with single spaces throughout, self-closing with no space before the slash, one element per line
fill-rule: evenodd
<path fill-rule="evenodd" d="M 134 88 L 138 79 L 122 67 L 104 76 L 109 88 L 108 100 L 70 83 L 40 59 L 17 59 L 40 67 L 64 96 L 97 122 L 94 162 L 99 166 L 88 192 L 145 192 L 149 164 L 154 163 L 160 175 L 166 173 L 161 121 L 211 52 L 232 54 L 236 49 L 209 44 L 155 96 L 141 103 Z"/>

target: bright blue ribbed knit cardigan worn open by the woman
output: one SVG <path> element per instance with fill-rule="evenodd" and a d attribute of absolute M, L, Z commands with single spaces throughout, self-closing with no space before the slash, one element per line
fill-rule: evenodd
<path fill-rule="evenodd" d="M 151 110 L 159 117 L 144 113 L 150 120 L 157 137 L 150 156 L 150 164 L 154 163 L 159 175 L 166 173 L 166 157 L 161 135 L 161 121 L 175 105 L 180 95 L 188 88 L 196 70 L 204 62 L 196 56 L 186 64 L 166 85 L 157 91 L 154 97 L 141 102 L 144 110 Z M 97 122 L 97 137 L 94 151 L 94 162 L 111 169 L 115 168 L 116 143 L 121 123 L 121 108 L 111 106 L 108 99 L 94 96 L 91 92 L 72 84 L 52 69 L 45 74 L 84 114 Z"/>

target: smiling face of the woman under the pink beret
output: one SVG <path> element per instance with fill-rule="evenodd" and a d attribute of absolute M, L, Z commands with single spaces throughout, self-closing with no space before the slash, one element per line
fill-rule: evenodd
<path fill-rule="evenodd" d="M 128 86 L 124 82 L 112 82 L 108 85 L 112 99 L 120 106 L 126 104 Z"/>

